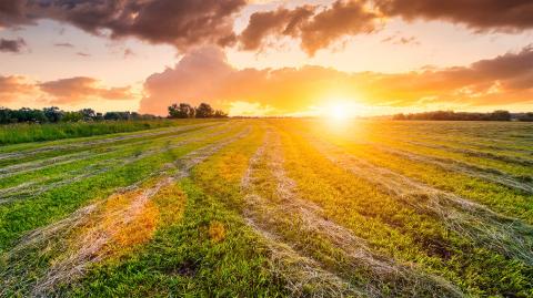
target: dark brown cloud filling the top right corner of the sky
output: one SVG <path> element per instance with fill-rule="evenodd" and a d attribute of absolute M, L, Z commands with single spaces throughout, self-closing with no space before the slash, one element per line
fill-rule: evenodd
<path fill-rule="evenodd" d="M 474 30 L 521 31 L 533 28 L 531 0 L 374 0 L 388 17 L 442 20 Z"/>

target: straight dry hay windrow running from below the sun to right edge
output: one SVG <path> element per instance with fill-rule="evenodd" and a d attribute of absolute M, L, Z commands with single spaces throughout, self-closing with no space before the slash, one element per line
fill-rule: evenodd
<path fill-rule="evenodd" d="M 532 226 L 520 219 L 496 214 L 455 194 L 373 165 L 325 141 L 310 136 L 308 140 L 332 163 L 379 186 L 419 212 L 438 217 L 451 230 L 507 257 L 533 265 Z"/>

